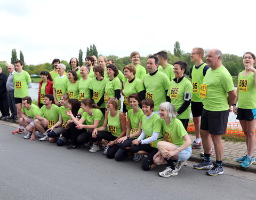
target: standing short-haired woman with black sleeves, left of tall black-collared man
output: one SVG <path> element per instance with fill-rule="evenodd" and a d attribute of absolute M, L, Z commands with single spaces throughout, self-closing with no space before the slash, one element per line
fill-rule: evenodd
<path fill-rule="evenodd" d="M 141 79 L 135 77 L 136 69 L 133 65 L 126 65 L 124 67 L 124 76 L 127 81 L 124 83 L 124 102 L 123 102 L 123 112 L 126 113 L 131 109 L 129 104 L 128 96 L 132 93 L 138 93 L 140 100 L 145 99 L 146 90 Z"/>

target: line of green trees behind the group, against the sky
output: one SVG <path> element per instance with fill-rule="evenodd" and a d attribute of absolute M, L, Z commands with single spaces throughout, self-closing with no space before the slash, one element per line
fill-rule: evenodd
<path fill-rule="evenodd" d="M 176 62 L 178 60 L 183 60 L 183 61 L 187 62 L 188 70 L 187 70 L 186 74 L 188 75 L 190 67 L 192 67 L 194 65 L 194 63 L 191 62 L 190 52 L 182 51 L 181 47 L 180 47 L 180 43 L 178 41 L 174 44 L 173 53 L 171 53 L 168 50 L 163 50 L 163 51 L 167 52 L 168 63 L 170 63 L 172 65 L 174 62 Z M 206 54 L 206 52 L 207 52 L 207 50 L 205 50 L 205 54 Z M 153 54 L 154 53 L 157 53 L 157 52 L 153 52 Z M 12 55 L 11 63 L 14 64 L 14 61 L 18 59 L 17 52 L 15 49 L 12 50 L 11 55 Z M 98 54 L 97 47 L 93 44 L 93 45 L 90 45 L 90 47 L 87 47 L 86 56 L 87 55 L 95 55 L 98 58 L 102 54 Z M 129 65 L 131 63 L 130 56 L 123 57 L 123 58 L 119 58 L 117 55 L 112 55 L 112 54 L 105 55 L 105 56 L 108 59 L 115 60 L 116 66 L 121 71 L 123 70 L 124 66 Z M 145 68 L 147 66 L 148 56 L 149 55 L 147 55 L 146 57 L 140 58 L 140 63 Z M 79 53 L 78 53 L 79 66 L 85 65 L 85 62 L 84 62 L 85 57 L 83 58 L 83 51 L 80 49 Z M 228 69 L 231 76 L 237 76 L 238 73 L 244 69 L 242 56 L 238 56 L 238 55 L 234 55 L 234 54 L 223 54 L 222 57 L 223 57 L 222 64 L 223 64 L 223 66 L 225 66 Z M 23 61 L 23 63 L 25 63 L 23 69 L 28 71 L 28 73 L 30 75 L 32 75 L 32 74 L 39 75 L 40 72 L 43 70 L 49 70 L 49 71 L 52 70 L 52 64 L 50 62 L 46 62 L 46 63 L 39 64 L 39 65 L 27 65 L 27 63 L 24 61 L 24 56 L 23 56 L 22 51 L 20 51 L 19 58 L 20 58 L 20 60 Z M 205 58 L 203 59 L 203 61 L 205 61 Z M 69 66 L 69 61 L 61 60 L 61 63 L 66 65 L 66 70 L 71 69 L 71 67 Z M 6 61 L 0 61 L 0 67 L 2 67 L 4 73 L 7 73 L 7 66 L 8 65 L 7 65 Z"/>

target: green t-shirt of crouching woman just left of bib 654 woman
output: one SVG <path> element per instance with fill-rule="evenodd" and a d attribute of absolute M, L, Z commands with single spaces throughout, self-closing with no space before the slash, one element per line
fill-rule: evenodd
<path fill-rule="evenodd" d="M 104 122 L 104 116 L 103 116 L 101 110 L 98 109 L 98 108 L 93 108 L 92 116 L 90 116 L 89 113 L 84 112 L 83 115 L 82 115 L 82 118 L 85 119 L 85 121 L 83 123 L 85 125 L 93 125 L 94 120 L 99 120 L 100 123 L 97 126 L 97 128 L 101 127 L 103 125 L 103 122 Z"/>

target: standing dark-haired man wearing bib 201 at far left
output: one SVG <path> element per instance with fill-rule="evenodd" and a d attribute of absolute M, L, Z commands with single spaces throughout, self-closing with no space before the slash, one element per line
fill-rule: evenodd
<path fill-rule="evenodd" d="M 31 78 L 27 71 L 23 70 L 23 61 L 16 60 L 14 62 L 15 69 L 17 73 L 13 74 L 14 83 L 14 101 L 17 108 L 17 118 L 18 121 L 21 118 L 21 98 L 28 96 L 28 88 L 31 86 Z M 17 131 L 13 131 L 13 134 L 23 133 L 23 126 L 19 126 Z"/>

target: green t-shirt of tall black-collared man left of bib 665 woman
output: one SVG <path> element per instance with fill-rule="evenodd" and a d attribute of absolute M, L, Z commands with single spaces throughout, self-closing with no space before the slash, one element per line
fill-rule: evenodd
<path fill-rule="evenodd" d="M 146 99 L 152 99 L 155 103 L 154 111 L 159 110 L 159 105 L 166 101 L 165 91 L 169 89 L 169 78 L 157 71 L 151 76 L 149 73 L 143 78 L 143 84 L 146 88 Z"/>

